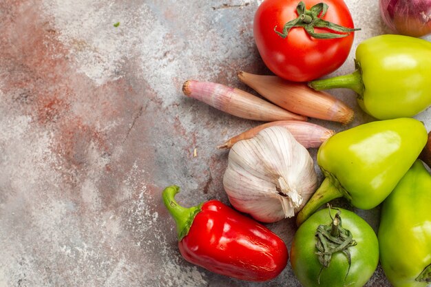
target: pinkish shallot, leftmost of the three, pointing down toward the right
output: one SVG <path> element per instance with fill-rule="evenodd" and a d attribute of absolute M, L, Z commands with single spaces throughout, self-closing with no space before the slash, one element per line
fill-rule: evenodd
<path fill-rule="evenodd" d="M 286 111 L 240 89 L 218 83 L 186 81 L 182 86 L 182 92 L 186 96 L 201 100 L 220 111 L 249 120 L 271 122 L 273 120 L 307 119 L 306 116 L 293 114 L 291 111 Z"/>

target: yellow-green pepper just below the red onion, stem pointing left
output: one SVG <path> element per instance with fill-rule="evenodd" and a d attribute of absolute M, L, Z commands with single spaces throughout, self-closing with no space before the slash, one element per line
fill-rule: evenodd
<path fill-rule="evenodd" d="M 400 35 L 360 43 L 353 74 L 312 81 L 317 90 L 346 87 L 357 92 L 367 114 L 386 120 L 410 117 L 431 105 L 431 43 Z"/>

